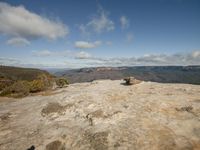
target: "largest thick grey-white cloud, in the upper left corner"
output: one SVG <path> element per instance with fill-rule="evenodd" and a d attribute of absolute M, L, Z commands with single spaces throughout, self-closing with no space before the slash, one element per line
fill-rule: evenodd
<path fill-rule="evenodd" d="M 50 20 L 30 12 L 23 6 L 0 2 L 0 33 L 23 39 L 64 37 L 68 27 L 60 21 Z"/>

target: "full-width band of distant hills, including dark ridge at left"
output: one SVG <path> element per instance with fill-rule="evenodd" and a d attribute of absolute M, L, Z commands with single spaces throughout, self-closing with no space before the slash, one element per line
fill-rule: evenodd
<path fill-rule="evenodd" d="M 51 74 L 65 77 L 69 83 L 91 82 L 98 79 L 122 79 L 128 76 L 143 81 L 161 83 L 200 84 L 200 66 L 137 66 L 137 67 L 94 67 L 82 69 L 51 69 Z M 31 81 L 40 74 L 51 76 L 40 69 L 0 66 L 0 81 Z"/>

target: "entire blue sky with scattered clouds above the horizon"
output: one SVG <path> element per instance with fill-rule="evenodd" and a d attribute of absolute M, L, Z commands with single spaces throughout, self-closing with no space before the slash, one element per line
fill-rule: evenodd
<path fill-rule="evenodd" d="M 200 65 L 200 1 L 0 0 L 0 65 Z"/>

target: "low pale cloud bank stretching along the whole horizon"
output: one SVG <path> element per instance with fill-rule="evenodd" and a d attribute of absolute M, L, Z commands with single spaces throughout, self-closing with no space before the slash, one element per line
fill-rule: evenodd
<path fill-rule="evenodd" d="M 35 51 L 33 52 L 34 56 L 38 57 L 66 57 L 73 59 L 74 66 L 77 67 L 97 67 L 97 66 L 174 66 L 174 65 L 200 65 L 200 51 L 193 51 L 189 53 L 177 53 L 173 55 L 144 55 L 141 57 L 121 57 L 121 58 L 101 58 L 94 57 L 90 53 L 85 51 L 60 51 L 53 52 L 49 50 L 44 51 Z M 71 62 L 72 63 L 72 62 Z M 14 58 L 1 58 L 0 57 L 0 65 L 14 65 L 14 66 L 35 66 L 37 63 L 32 64 L 24 64 L 24 62 L 14 59 Z M 64 65 L 66 64 L 66 66 Z M 68 67 L 67 64 L 63 62 L 61 66 L 60 64 L 53 63 L 48 64 L 48 67 Z M 44 67 L 47 64 L 37 64 L 37 67 L 41 65 Z"/>

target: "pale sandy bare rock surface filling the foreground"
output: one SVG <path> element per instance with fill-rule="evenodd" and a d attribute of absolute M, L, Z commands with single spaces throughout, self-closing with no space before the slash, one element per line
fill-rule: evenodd
<path fill-rule="evenodd" d="M 0 150 L 200 150 L 200 85 L 120 80 L 0 100 Z"/>

